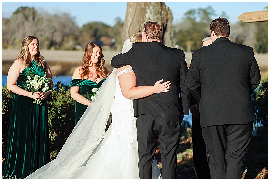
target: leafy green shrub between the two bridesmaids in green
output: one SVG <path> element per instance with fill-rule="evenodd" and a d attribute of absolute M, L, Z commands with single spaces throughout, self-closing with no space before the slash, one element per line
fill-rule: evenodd
<path fill-rule="evenodd" d="M 66 86 L 58 81 L 48 97 L 47 104 L 50 156 L 53 160 L 75 127 L 75 100 L 70 96 L 70 85 Z"/>

